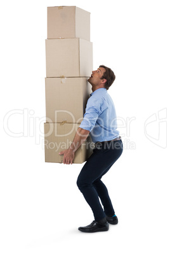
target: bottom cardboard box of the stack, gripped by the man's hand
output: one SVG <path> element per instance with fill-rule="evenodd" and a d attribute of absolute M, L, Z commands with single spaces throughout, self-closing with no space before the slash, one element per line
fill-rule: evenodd
<path fill-rule="evenodd" d="M 44 150 L 45 162 L 63 162 L 63 155 L 59 155 L 62 150 L 69 148 L 75 132 L 80 124 L 71 123 L 44 123 Z M 75 152 L 74 164 L 82 164 L 93 153 L 94 144 L 91 137 Z"/>

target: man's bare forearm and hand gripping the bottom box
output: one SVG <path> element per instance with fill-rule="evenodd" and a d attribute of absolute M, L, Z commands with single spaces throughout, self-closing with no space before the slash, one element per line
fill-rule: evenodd
<path fill-rule="evenodd" d="M 79 146 L 82 145 L 86 138 L 88 138 L 88 135 L 88 130 L 84 130 L 81 127 L 77 129 L 77 132 L 74 136 L 74 140 L 72 141 L 70 147 L 67 150 L 63 150 L 62 152 L 59 153 L 59 155 L 64 155 L 63 164 L 72 164 L 75 151 L 79 148 Z"/>

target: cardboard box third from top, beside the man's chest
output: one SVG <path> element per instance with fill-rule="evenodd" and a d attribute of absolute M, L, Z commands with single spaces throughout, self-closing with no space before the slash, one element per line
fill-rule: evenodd
<path fill-rule="evenodd" d="M 46 122 L 81 123 L 92 92 L 86 77 L 45 78 Z"/>

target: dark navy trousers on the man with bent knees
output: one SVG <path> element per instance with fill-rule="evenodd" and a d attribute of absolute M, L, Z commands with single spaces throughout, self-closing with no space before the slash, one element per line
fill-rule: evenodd
<path fill-rule="evenodd" d="M 115 214 L 107 187 L 101 181 L 101 177 L 119 159 L 122 151 L 121 139 L 104 144 L 97 143 L 93 154 L 84 164 L 77 178 L 77 186 L 91 207 L 96 221 L 101 220 L 106 215 L 112 216 Z M 100 204 L 99 197 L 103 207 Z"/>

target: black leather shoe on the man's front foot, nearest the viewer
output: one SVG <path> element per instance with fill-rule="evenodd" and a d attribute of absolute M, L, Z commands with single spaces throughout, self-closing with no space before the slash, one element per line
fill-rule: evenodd
<path fill-rule="evenodd" d="M 96 220 L 93 220 L 93 222 L 88 226 L 79 227 L 79 231 L 88 232 L 88 233 L 108 231 L 108 222 L 106 222 L 105 224 L 100 224 L 96 222 Z"/>

